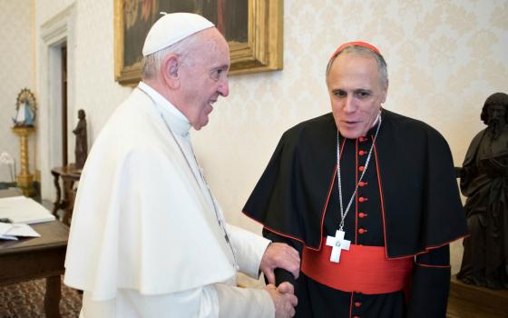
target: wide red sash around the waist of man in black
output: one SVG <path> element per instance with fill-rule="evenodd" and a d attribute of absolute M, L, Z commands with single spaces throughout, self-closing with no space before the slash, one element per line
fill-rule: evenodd
<path fill-rule="evenodd" d="M 301 271 L 318 283 L 343 292 L 394 293 L 410 279 L 413 256 L 386 259 L 385 246 L 351 244 L 340 263 L 330 262 L 332 247 L 323 238 L 321 250 L 303 249 Z"/>

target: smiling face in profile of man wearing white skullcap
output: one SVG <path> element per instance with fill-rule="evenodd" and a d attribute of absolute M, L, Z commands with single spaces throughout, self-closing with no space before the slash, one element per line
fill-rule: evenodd
<path fill-rule="evenodd" d="M 228 71 L 230 70 L 230 48 L 216 28 L 202 31 L 203 44 L 191 52 L 181 69 L 181 88 L 184 94 L 182 113 L 194 129 L 209 121 L 212 104 L 219 95 L 230 94 Z"/>

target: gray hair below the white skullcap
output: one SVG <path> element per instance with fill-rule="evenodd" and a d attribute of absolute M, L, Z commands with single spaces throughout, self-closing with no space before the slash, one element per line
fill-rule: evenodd
<path fill-rule="evenodd" d="M 162 62 L 167 55 L 178 55 L 179 60 L 182 63 L 187 62 L 187 55 L 192 52 L 197 46 L 202 43 L 202 39 L 199 36 L 200 33 L 190 35 L 183 40 L 165 47 L 151 55 L 143 56 L 142 58 L 142 78 L 152 79 L 156 78 L 161 71 Z"/>

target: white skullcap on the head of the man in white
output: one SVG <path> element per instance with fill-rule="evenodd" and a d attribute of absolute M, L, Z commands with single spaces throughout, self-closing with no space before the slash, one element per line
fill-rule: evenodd
<path fill-rule="evenodd" d="M 181 12 L 163 15 L 151 26 L 148 35 L 146 35 L 142 55 L 151 55 L 213 26 L 215 25 L 201 15 Z"/>

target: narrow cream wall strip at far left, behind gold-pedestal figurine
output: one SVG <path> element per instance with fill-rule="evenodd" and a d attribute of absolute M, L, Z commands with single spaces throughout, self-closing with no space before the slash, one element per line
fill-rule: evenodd
<path fill-rule="evenodd" d="M 20 169 L 18 137 L 11 132 L 17 94 L 27 87 L 34 92 L 33 81 L 33 1 L 0 0 L 0 154 L 7 152 Z M 34 136 L 29 139 L 31 171 L 34 171 Z M 0 182 L 10 182 L 7 166 L 0 164 Z"/>

